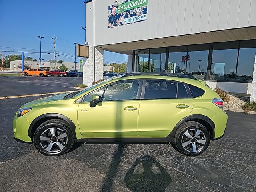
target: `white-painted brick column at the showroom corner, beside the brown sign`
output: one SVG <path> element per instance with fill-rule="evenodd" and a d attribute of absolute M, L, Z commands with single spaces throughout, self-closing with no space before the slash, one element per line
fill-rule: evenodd
<path fill-rule="evenodd" d="M 92 82 L 103 78 L 103 48 L 89 46 L 89 58 L 84 59 L 83 84 L 92 86 Z"/>

